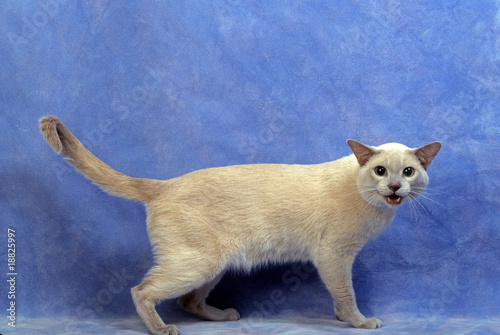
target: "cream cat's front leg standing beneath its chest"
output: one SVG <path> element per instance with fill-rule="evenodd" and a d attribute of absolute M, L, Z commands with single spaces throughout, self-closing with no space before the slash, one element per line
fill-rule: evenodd
<path fill-rule="evenodd" d="M 319 274 L 334 300 L 335 316 L 340 321 L 347 321 L 355 328 L 375 329 L 382 326 L 377 318 L 366 318 L 356 305 L 352 287 L 352 263 L 356 251 L 342 250 L 333 252 L 327 248 L 317 261 Z"/>

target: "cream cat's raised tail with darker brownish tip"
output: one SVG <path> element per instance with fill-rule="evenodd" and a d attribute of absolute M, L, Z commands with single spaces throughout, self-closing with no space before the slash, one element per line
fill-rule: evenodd
<path fill-rule="evenodd" d="M 67 156 L 66 161 L 105 191 L 140 202 L 148 202 L 161 192 L 164 182 L 160 180 L 132 178 L 106 165 L 85 148 L 57 117 L 43 117 L 39 124 L 43 137 L 52 149 Z"/>

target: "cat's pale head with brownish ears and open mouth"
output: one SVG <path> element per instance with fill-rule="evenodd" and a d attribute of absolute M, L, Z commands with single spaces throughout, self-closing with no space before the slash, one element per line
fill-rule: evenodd
<path fill-rule="evenodd" d="M 429 182 L 427 168 L 441 149 L 433 142 L 410 149 L 399 143 L 378 147 L 348 140 L 360 165 L 357 186 L 373 206 L 396 208 L 422 193 Z"/>

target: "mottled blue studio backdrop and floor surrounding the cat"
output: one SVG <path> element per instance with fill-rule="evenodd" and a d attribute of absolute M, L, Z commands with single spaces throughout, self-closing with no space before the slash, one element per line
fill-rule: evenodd
<path fill-rule="evenodd" d="M 359 254 L 358 305 L 377 334 L 500 333 L 498 1 L 6 0 L 0 46 L 0 332 L 147 332 L 129 292 L 152 265 L 144 208 L 52 151 L 38 119 L 54 114 L 157 179 L 441 141 L 425 196 Z M 242 320 L 158 309 L 183 334 L 369 333 L 333 320 L 310 264 L 229 274 L 210 299 Z"/>

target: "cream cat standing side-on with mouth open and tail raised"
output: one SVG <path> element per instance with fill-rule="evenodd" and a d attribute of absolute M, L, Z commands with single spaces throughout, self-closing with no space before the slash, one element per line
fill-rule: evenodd
<path fill-rule="evenodd" d="M 147 209 L 155 266 L 131 289 L 137 313 L 154 335 L 179 334 L 155 310 L 179 298 L 206 320 L 238 320 L 232 308 L 205 303 L 228 269 L 312 261 L 334 301 L 334 315 L 374 329 L 356 305 L 352 264 L 368 240 L 386 228 L 396 208 L 428 184 L 427 168 L 441 148 L 416 149 L 354 140 L 353 154 L 315 165 L 254 164 L 209 168 L 170 180 L 132 178 L 88 151 L 55 116 L 40 119 L 45 140 L 85 177 Z"/>

